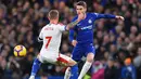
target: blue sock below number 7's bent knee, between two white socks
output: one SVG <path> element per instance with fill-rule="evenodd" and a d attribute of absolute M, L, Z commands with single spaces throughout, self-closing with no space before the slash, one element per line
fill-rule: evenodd
<path fill-rule="evenodd" d="M 78 79 L 78 65 L 70 67 L 70 79 Z"/>

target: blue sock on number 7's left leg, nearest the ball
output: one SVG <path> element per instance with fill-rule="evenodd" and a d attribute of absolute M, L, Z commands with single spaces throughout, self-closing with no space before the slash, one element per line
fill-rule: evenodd
<path fill-rule="evenodd" d="M 40 65 L 41 65 L 41 62 L 39 62 L 38 58 L 35 58 L 33 67 L 31 67 L 31 74 L 30 74 L 31 76 L 36 76 L 37 71 L 40 68 Z"/>

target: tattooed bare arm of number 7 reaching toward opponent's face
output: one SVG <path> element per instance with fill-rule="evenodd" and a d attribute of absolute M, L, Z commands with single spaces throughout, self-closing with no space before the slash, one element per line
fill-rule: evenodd
<path fill-rule="evenodd" d="M 75 27 L 81 19 L 84 19 L 85 15 L 81 13 L 78 15 L 78 18 L 75 22 L 69 23 L 66 26 L 66 30 L 69 30 L 70 28 Z"/>

